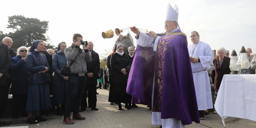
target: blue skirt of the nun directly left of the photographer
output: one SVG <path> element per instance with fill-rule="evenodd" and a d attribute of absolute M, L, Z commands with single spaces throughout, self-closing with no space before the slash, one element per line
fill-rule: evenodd
<path fill-rule="evenodd" d="M 68 81 L 53 80 L 53 102 L 64 103 L 68 97 Z"/>

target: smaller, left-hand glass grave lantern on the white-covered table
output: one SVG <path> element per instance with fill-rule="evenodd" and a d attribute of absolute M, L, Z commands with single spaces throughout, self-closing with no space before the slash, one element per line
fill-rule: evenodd
<path fill-rule="evenodd" d="M 229 69 L 230 69 L 230 74 L 237 74 L 239 71 L 239 68 L 237 66 L 237 61 L 238 61 L 238 56 L 237 52 L 235 50 L 232 51 L 231 56 L 230 56 L 230 63 L 229 63 Z"/>

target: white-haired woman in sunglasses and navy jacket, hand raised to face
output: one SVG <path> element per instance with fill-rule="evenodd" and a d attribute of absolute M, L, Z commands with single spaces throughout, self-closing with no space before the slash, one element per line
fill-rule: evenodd
<path fill-rule="evenodd" d="M 17 56 L 11 59 L 11 75 L 13 78 L 11 94 L 13 95 L 12 118 L 18 118 L 19 111 L 27 115 L 26 102 L 28 95 L 28 68 L 26 65 L 27 47 L 17 49 Z"/>

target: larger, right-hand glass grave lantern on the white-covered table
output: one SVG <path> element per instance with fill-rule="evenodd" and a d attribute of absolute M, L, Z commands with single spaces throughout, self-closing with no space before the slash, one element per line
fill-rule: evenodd
<path fill-rule="evenodd" d="M 238 74 L 249 74 L 248 68 L 250 68 L 250 61 L 248 60 L 244 46 L 240 50 L 237 66 L 239 68 Z"/>

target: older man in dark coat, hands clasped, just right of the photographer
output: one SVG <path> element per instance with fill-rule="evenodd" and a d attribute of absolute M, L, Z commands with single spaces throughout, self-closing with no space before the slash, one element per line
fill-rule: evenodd
<path fill-rule="evenodd" d="M 99 79 L 100 59 L 99 54 L 93 51 L 93 42 L 88 42 L 88 50 L 91 52 L 91 62 L 87 62 L 87 82 L 84 89 L 84 94 L 81 102 L 80 112 L 85 111 L 87 108 L 87 90 L 88 90 L 88 107 L 91 110 L 98 110 L 96 108 L 97 96 L 96 96 L 96 85 Z"/>

